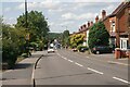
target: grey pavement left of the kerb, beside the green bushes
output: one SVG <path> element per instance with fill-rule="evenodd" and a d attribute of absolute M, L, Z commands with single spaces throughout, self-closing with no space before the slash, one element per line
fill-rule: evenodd
<path fill-rule="evenodd" d="M 2 73 L 2 85 L 31 85 L 34 64 L 44 51 L 32 52 L 32 55 L 24 59 L 13 70 Z"/>

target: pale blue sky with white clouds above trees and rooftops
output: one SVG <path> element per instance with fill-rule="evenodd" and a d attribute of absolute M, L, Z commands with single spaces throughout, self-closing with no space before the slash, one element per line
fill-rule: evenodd
<path fill-rule="evenodd" d="M 24 13 L 25 0 L 4 0 L 0 2 L 0 15 L 6 24 L 16 24 L 16 18 Z M 28 11 L 37 10 L 46 16 L 50 32 L 62 33 L 68 29 L 78 32 L 79 27 L 101 17 L 102 10 L 110 14 L 123 0 L 27 0 Z"/>

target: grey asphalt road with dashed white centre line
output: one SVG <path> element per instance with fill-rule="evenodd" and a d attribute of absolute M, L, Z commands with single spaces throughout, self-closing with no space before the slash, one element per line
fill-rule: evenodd
<path fill-rule="evenodd" d="M 36 85 L 128 85 L 128 65 L 70 50 L 46 53 L 35 71 Z M 107 58 L 107 55 L 106 55 Z"/>

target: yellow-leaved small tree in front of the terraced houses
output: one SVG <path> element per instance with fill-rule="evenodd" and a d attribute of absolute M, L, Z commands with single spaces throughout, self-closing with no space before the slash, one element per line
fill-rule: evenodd
<path fill-rule="evenodd" d="M 70 36 L 70 47 L 77 48 L 77 46 L 83 42 L 84 35 L 83 34 L 75 34 Z"/>

